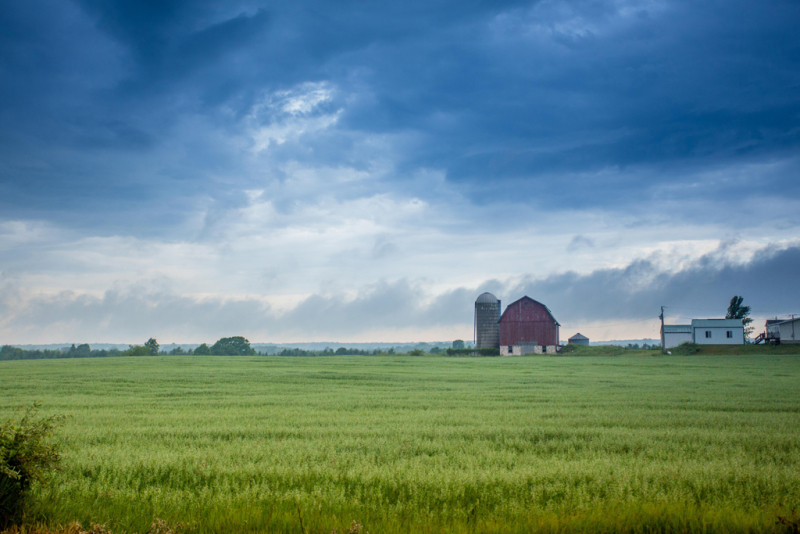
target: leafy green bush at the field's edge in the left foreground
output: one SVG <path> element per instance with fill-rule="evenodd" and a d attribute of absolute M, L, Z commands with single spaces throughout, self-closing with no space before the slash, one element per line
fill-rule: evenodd
<path fill-rule="evenodd" d="M 39 404 L 25 411 L 19 421 L 12 417 L 0 426 L 0 529 L 16 522 L 33 482 L 44 482 L 58 467 L 59 453 L 53 432 L 64 416 L 37 417 Z"/>

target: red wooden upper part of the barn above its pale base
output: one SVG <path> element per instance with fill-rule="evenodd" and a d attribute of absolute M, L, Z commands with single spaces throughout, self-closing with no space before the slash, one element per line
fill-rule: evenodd
<path fill-rule="evenodd" d="M 522 297 L 500 317 L 500 345 L 558 345 L 559 326 L 547 306 Z"/>

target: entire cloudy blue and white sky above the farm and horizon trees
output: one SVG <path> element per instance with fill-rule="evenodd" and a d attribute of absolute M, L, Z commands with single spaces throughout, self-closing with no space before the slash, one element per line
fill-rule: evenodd
<path fill-rule="evenodd" d="M 800 314 L 796 1 L 0 5 L 0 343 Z M 758 330 L 757 330 L 758 331 Z"/>

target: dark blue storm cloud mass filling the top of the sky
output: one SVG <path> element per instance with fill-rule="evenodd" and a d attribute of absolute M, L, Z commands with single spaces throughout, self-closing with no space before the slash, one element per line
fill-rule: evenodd
<path fill-rule="evenodd" d="M 180 198 L 252 187 L 220 136 L 241 135 L 265 93 L 320 81 L 339 122 L 273 163 L 388 157 L 384 188 L 424 196 L 405 177 L 434 168 L 475 202 L 547 209 L 652 202 L 665 184 L 704 215 L 797 199 L 798 23 L 790 1 L 7 2 L 0 206 L 164 227 L 192 209 Z M 353 149 L 394 133 L 390 154 Z M 703 174 L 761 163 L 778 170 Z"/>

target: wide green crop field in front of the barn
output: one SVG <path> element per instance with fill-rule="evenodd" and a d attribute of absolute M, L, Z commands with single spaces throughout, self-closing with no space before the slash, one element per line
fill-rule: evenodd
<path fill-rule="evenodd" d="M 71 415 L 50 524 L 779 532 L 800 506 L 798 355 L 9 361 L 0 386 L 3 418 Z"/>

